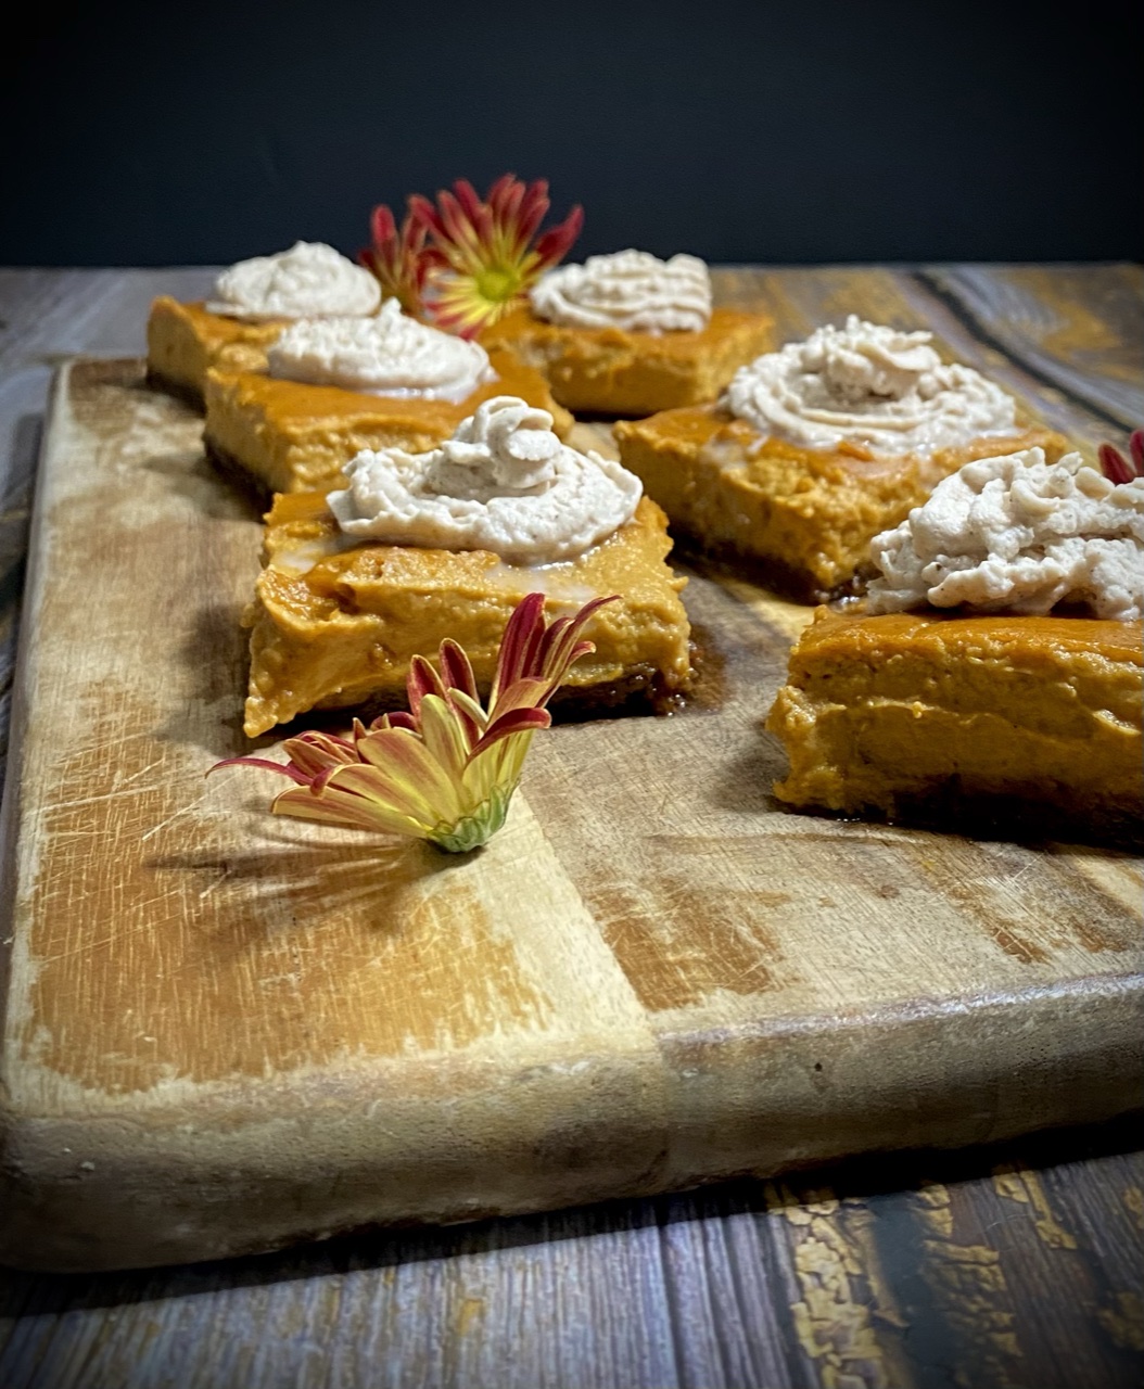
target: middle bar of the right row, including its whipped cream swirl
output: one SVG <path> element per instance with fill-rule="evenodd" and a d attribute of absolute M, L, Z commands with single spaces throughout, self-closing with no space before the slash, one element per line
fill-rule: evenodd
<path fill-rule="evenodd" d="M 851 318 L 742 368 L 720 401 L 614 426 L 677 536 L 805 601 L 848 592 L 869 544 L 963 463 L 1068 440 L 1018 418 L 929 333 Z"/>

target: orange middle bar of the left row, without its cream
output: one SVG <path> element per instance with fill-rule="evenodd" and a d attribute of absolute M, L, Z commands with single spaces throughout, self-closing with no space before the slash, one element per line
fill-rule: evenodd
<path fill-rule="evenodd" d="M 573 417 L 556 404 L 539 372 L 503 349 L 489 353 L 489 365 L 496 379 L 456 404 L 363 394 L 256 372 L 210 372 L 203 443 L 224 472 L 268 497 L 342 486 L 343 465 L 363 449 L 425 453 L 495 396 L 520 396 L 546 410 L 553 431 L 567 435 Z"/>

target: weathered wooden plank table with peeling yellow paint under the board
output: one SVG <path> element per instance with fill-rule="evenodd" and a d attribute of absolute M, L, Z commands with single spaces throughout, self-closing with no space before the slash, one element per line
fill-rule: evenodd
<path fill-rule="evenodd" d="M 759 274 L 724 272 L 721 288 Z M 196 297 L 210 278 L 0 276 L 6 672 L 51 363 L 138 354 L 150 297 Z M 791 269 L 763 285 L 787 321 L 808 326 L 855 296 L 870 314 L 912 315 L 1079 438 L 1123 442 L 1144 419 L 1136 267 Z M 1134 1133 L 1119 1121 L 225 1264 L 0 1274 L 0 1383 L 1136 1383 Z"/>

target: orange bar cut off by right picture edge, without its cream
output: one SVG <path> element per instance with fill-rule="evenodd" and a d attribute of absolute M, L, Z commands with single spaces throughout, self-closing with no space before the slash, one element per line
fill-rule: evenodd
<path fill-rule="evenodd" d="M 1084 617 L 820 608 L 767 728 L 802 808 L 1138 840 L 1144 638 Z"/>

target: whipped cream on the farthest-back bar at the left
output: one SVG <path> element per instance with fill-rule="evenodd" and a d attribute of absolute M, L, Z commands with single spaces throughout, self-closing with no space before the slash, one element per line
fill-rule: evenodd
<path fill-rule="evenodd" d="M 381 285 L 332 246 L 295 242 L 224 269 L 214 296 L 207 310 L 231 318 L 341 318 L 373 314 Z"/>

